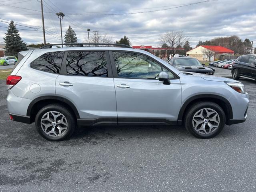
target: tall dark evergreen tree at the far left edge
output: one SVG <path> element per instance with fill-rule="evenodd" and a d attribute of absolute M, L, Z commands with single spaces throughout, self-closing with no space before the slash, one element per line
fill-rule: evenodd
<path fill-rule="evenodd" d="M 16 29 L 14 21 L 12 20 L 8 26 L 7 32 L 4 37 L 5 54 L 7 56 L 18 56 L 18 52 L 28 50 L 26 48 L 26 43 L 20 37 L 19 30 Z"/>

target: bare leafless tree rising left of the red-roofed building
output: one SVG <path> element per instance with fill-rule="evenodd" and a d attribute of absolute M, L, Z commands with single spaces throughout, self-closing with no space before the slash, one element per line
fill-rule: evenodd
<path fill-rule="evenodd" d="M 181 48 L 188 40 L 188 37 L 184 36 L 183 31 L 168 31 L 159 36 L 160 43 L 168 46 L 167 49 L 172 56 L 174 56 L 178 48 Z"/>

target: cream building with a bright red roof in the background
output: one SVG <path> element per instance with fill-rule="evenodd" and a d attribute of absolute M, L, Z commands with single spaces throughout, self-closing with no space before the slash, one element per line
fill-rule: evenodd
<path fill-rule="evenodd" d="M 211 61 L 216 60 L 216 59 L 220 59 L 222 54 L 230 54 L 230 55 L 234 55 L 234 51 L 226 48 L 226 47 L 222 47 L 222 46 L 215 46 L 215 45 L 201 45 L 201 46 L 197 46 L 196 48 L 189 50 L 186 55 L 190 56 L 190 57 L 194 57 L 197 58 L 200 61 L 209 61 L 209 58 L 206 54 L 204 54 L 204 50 L 211 50 L 214 52 L 214 55 L 210 58 Z"/>

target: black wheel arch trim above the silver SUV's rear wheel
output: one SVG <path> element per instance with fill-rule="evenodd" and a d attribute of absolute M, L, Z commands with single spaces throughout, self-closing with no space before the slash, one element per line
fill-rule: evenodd
<path fill-rule="evenodd" d="M 70 100 L 60 96 L 41 96 L 32 100 L 32 102 L 28 106 L 27 116 L 30 116 L 30 121 L 34 122 L 36 114 L 40 110 L 40 108 L 51 103 L 63 104 L 70 109 L 70 111 L 74 114 L 74 116 L 76 116 L 77 119 L 80 118 L 76 106 Z"/>

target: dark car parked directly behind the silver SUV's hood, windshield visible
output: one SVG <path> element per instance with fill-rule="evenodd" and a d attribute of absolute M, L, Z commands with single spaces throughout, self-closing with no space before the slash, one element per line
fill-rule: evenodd
<path fill-rule="evenodd" d="M 180 71 L 194 72 L 213 75 L 211 68 L 204 66 L 196 58 L 192 57 L 174 57 L 168 60 L 168 63 Z"/>

